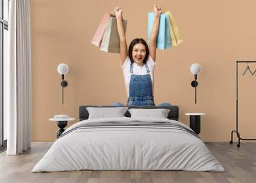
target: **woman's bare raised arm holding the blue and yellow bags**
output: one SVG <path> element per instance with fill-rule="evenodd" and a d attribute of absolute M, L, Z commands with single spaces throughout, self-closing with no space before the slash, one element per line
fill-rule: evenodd
<path fill-rule="evenodd" d="M 150 33 L 150 41 L 149 41 L 149 54 L 152 58 L 152 60 L 156 61 L 156 39 L 159 29 L 159 20 L 160 20 L 160 14 L 161 14 L 161 7 L 158 4 L 154 4 L 154 23 L 152 26 L 152 30 Z"/>

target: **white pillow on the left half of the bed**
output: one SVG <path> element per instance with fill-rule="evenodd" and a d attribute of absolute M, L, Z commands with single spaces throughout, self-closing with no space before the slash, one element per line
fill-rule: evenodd
<path fill-rule="evenodd" d="M 86 107 L 89 113 L 89 119 L 95 118 L 120 118 L 125 117 L 124 114 L 128 107 Z"/>

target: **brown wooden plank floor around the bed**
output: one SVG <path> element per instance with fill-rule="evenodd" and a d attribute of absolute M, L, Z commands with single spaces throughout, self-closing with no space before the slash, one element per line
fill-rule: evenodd
<path fill-rule="evenodd" d="M 52 143 L 32 143 L 22 155 L 0 154 L 0 182 L 256 182 L 256 143 L 206 143 L 225 172 L 196 171 L 64 171 L 31 173 Z"/>

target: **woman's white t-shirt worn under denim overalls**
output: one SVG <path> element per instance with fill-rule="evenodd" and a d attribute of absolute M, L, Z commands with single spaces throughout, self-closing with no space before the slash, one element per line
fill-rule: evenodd
<path fill-rule="evenodd" d="M 149 68 L 150 77 L 152 81 L 152 90 L 154 91 L 154 66 L 156 63 L 152 60 L 150 56 L 148 56 L 147 65 Z M 129 97 L 129 89 L 130 89 L 130 81 L 131 81 L 131 60 L 129 56 L 125 59 L 123 65 L 121 65 L 124 73 L 124 83 L 125 83 L 125 89 L 127 93 L 127 97 Z M 133 74 L 136 75 L 145 75 L 147 74 L 147 68 L 146 65 L 138 65 L 135 61 L 133 63 Z"/>

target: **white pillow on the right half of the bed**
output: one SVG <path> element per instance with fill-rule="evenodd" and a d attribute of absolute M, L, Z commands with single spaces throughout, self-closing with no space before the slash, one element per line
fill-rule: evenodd
<path fill-rule="evenodd" d="M 170 109 L 128 109 L 132 118 L 167 118 Z"/>

